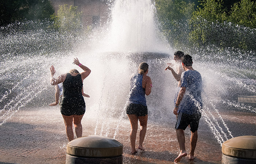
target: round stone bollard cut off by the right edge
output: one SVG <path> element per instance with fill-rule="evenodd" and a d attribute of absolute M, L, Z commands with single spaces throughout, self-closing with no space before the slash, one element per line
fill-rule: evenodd
<path fill-rule="evenodd" d="M 234 137 L 223 142 L 222 164 L 256 164 L 256 136 Z"/>

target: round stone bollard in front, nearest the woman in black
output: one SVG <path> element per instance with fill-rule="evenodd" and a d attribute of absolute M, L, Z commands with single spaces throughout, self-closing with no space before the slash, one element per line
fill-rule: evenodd
<path fill-rule="evenodd" d="M 68 142 L 66 164 L 123 164 L 123 144 L 105 136 L 85 136 Z"/>

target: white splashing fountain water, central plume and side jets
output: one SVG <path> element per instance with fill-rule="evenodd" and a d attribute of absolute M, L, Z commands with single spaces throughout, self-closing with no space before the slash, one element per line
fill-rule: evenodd
<path fill-rule="evenodd" d="M 89 43 L 82 48 L 76 46 L 76 50 L 55 47 L 55 42 L 69 38 L 57 32 L 18 30 L 24 26 L 38 29 L 35 22 L 21 23 L 18 29 L 11 25 L 1 29 L 0 126 L 18 110 L 48 106 L 54 100 L 50 65 L 56 68 L 56 75 L 79 69 L 72 65 L 74 57 L 92 70 L 84 80 L 84 93 L 90 95 L 85 98 L 86 114 L 95 120 L 94 134 L 113 138 L 118 135 L 120 125 L 127 120 L 124 107 L 130 75 L 138 70 L 140 62 L 149 64 L 148 75 L 153 82 L 152 93 L 147 97 L 149 122 L 162 124 L 176 119 L 172 111 L 177 83 L 170 72 L 164 71 L 173 50 L 159 35 L 154 4 L 151 0 L 116 0 L 111 14 L 110 24 L 95 31 Z M 78 40 L 75 45 L 87 38 Z M 202 120 L 222 144 L 233 137 L 221 116 L 222 109 L 256 113 L 255 107 L 237 102 L 238 95 L 256 94 L 255 58 L 251 57 L 256 56 L 255 52 L 215 47 L 188 52 L 203 79 Z"/>

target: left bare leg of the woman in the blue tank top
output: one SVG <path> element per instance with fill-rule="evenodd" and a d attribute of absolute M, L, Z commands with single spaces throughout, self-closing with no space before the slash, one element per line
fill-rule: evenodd
<path fill-rule="evenodd" d="M 134 154 L 137 152 L 135 149 L 135 141 L 136 141 L 136 134 L 138 130 L 138 117 L 135 116 L 134 114 L 127 114 L 127 116 L 131 123 L 131 132 L 130 132 L 130 141 L 131 141 L 131 147 L 132 147 L 131 154 Z"/>

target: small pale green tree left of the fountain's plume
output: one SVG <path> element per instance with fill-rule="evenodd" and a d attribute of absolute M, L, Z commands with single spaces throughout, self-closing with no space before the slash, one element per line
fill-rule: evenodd
<path fill-rule="evenodd" d="M 60 32 L 78 33 L 82 30 L 82 12 L 77 11 L 77 7 L 67 6 L 67 4 L 60 5 L 56 14 L 51 18 L 54 20 L 54 27 L 58 28 Z"/>

